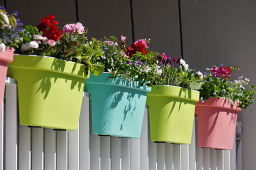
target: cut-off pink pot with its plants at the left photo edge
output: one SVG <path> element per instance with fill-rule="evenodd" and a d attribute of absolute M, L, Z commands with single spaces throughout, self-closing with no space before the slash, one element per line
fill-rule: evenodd
<path fill-rule="evenodd" d="M 7 65 L 13 60 L 13 51 L 17 47 L 22 23 L 16 18 L 18 12 L 8 14 L 3 6 L 0 6 L 0 115 L 4 96 L 4 87 L 7 73 Z"/>

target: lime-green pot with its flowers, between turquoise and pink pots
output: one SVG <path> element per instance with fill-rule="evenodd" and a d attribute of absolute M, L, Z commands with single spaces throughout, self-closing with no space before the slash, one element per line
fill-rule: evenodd
<path fill-rule="evenodd" d="M 180 57 L 158 57 L 161 76 L 148 93 L 152 141 L 191 143 L 195 104 L 199 101 L 199 76 Z"/>

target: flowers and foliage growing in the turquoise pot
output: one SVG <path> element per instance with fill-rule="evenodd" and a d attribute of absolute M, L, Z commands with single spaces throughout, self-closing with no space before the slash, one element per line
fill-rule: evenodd
<path fill-rule="evenodd" d="M 125 39 L 124 36 L 120 41 L 113 36 L 100 39 L 103 55 L 95 63 L 104 66 L 104 71 L 113 73 L 112 78 L 139 81 L 140 85 L 152 87 L 159 77 L 158 53 L 148 50 L 149 40 L 139 39 L 126 47 Z"/>

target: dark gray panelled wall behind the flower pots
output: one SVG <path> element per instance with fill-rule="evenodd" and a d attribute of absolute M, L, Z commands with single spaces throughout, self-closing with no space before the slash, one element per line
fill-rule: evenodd
<path fill-rule="evenodd" d="M 18 10 L 25 24 L 39 24 L 45 15 L 56 15 L 61 25 L 76 22 L 75 0 L 6 0 L 8 10 Z M 129 0 L 77 0 L 79 21 L 89 37 L 127 36 L 132 42 Z M 157 2 L 157 3 L 156 3 Z M 4 4 L 1 0 L 0 4 Z M 241 66 L 239 73 L 256 84 L 256 1 L 181 0 L 184 59 L 191 68 L 225 64 Z M 134 38 L 150 38 L 152 50 L 180 56 L 178 0 L 132 1 Z M 256 105 L 241 112 L 243 169 L 255 170 Z"/>

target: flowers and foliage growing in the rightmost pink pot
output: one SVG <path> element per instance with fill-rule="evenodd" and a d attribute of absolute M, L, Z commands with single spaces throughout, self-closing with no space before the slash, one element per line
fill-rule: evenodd
<path fill-rule="evenodd" d="M 243 76 L 238 80 L 231 81 L 232 70 L 239 70 L 239 67 L 217 67 L 213 66 L 207 69 L 209 73 L 204 74 L 202 89 L 200 89 L 200 97 L 202 101 L 209 97 L 223 97 L 228 99 L 230 103 L 234 101 L 239 103 L 240 108 L 246 108 L 253 103 L 255 86 L 249 85 L 249 79 Z"/>

